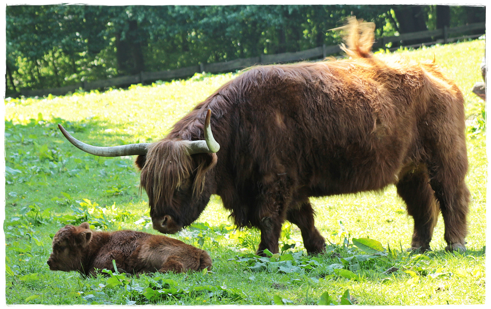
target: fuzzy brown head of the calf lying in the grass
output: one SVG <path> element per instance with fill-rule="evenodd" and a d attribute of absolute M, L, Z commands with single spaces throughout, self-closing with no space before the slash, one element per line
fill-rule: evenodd
<path fill-rule="evenodd" d="M 53 253 L 47 263 L 50 270 L 72 271 L 82 267 L 87 247 L 92 239 L 88 223 L 78 227 L 66 225 L 53 237 Z"/>

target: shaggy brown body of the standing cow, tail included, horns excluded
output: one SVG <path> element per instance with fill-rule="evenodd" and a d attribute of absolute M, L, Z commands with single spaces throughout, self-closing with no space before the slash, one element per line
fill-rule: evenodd
<path fill-rule="evenodd" d="M 218 194 L 237 226 L 261 230 L 259 252 L 278 252 L 285 220 L 299 226 L 309 253 L 322 252 L 309 197 L 396 184 L 414 218 L 412 249 L 430 249 L 441 211 L 446 249 L 465 250 L 461 91 L 435 63 L 373 56 L 373 26 L 351 19 L 346 30 L 352 59 L 252 68 L 137 158 L 157 230 L 191 224 Z M 186 155 L 173 141 L 203 139 L 208 108 L 220 150 Z M 198 167 L 213 165 L 193 196 Z"/>

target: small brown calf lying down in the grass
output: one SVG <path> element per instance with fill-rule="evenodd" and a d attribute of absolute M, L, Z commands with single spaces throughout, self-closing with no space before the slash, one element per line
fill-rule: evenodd
<path fill-rule="evenodd" d="M 94 275 L 95 269 L 114 271 L 113 259 L 119 272 L 136 275 L 212 267 L 206 251 L 180 240 L 136 231 L 92 231 L 88 223 L 67 225 L 56 232 L 47 263 L 51 270 Z"/>

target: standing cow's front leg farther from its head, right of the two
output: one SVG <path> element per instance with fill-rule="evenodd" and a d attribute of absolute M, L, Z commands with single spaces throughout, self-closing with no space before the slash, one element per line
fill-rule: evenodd
<path fill-rule="evenodd" d="M 302 203 L 300 208 L 289 209 L 286 219 L 299 227 L 303 238 L 303 246 L 308 254 L 325 251 L 325 239 L 314 226 L 314 209 L 312 209 L 312 205 L 308 201 Z"/>

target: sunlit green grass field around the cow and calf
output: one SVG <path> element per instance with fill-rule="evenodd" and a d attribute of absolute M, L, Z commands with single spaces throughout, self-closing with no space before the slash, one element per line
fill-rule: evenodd
<path fill-rule="evenodd" d="M 477 40 L 397 52 L 430 60 L 435 55 L 464 93 L 470 166 L 466 181 L 472 197 L 464 254 L 443 251 L 441 216 L 431 243 L 434 251 L 406 253 L 412 219 L 389 186 L 382 193 L 311 199 L 316 226 L 331 243 L 324 256 L 302 255 L 300 231 L 286 224 L 280 247 L 295 246 L 282 255 L 255 258 L 259 232 L 236 230 L 220 198 L 212 196 L 197 223 L 172 236 L 207 250 L 212 272 L 138 279 L 52 272 L 46 260 L 52 237 L 64 224 L 88 221 L 96 229 L 157 233 L 149 224 L 147 196 L 138 194 L 133 158 L 85 154 L 64 139 L 56 124 L 97 146 L 157 141 L 236 75 L 195 75 L 105 93 L 5 100 L 7 304 L 484 304 L 484 103 L 470 93 L 474 82 L 482 80 L 484 49 L 484 41 Z M 365 250 L 375 254 L 368 256 L 353 238 L 377 240 L 384 249 L 372 244 L 375 249 Z M 384 273 L 390 267 L 398 270 Z"/>

